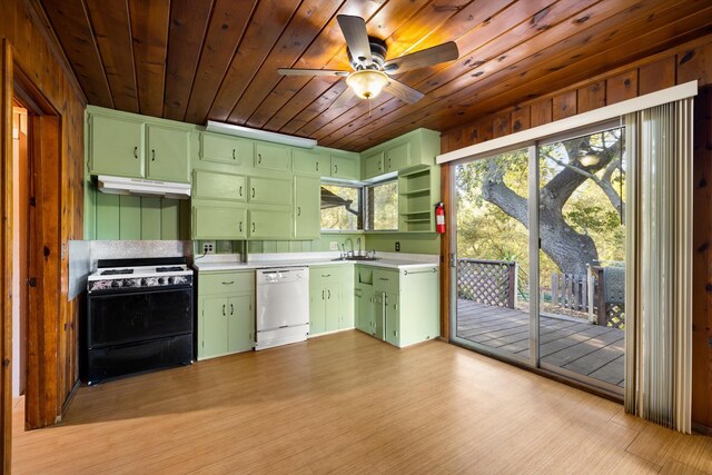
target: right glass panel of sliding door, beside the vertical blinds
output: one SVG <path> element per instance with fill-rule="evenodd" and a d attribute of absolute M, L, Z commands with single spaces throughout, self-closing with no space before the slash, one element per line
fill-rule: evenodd
<path fill-rule="evenodd" d="M 622 132 L 537 149 L 541 366 L 612 392 L 624 385 Z"/>

